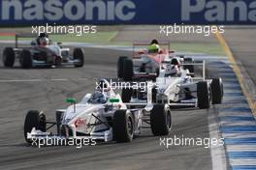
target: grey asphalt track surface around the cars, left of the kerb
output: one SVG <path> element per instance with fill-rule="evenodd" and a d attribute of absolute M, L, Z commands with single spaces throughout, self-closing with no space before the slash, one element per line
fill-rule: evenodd
<path fill-rule="evenodd" d="M 4 46 L 0 47 L 1 53 Z M 0 65 L 0 169 L 212 169 L 209 149 L 202 146 L 166 149 L 159 145 L 159 137 L 152 136 L 150 129 L 144 129 L 131 143 L 111 142 L 80 149 L 27 146 L 23 123 L 28 110 L 44 110 L 47 118 L 54 120 L 54 110 L 68 106 L 67 97 L 81 99 L 93 91 L 95 78 L 116 77 L 117 57 L 130 55 L 108 49 L 84 48 L 84 51 L 85 66 L 80 69 L 22 70 Z M 215 110 L 173 111 L 169 137 L 208 138 L 208 112 Z"/>

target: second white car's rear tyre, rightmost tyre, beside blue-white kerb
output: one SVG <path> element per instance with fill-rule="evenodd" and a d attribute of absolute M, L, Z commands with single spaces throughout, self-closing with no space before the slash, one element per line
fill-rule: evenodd
<path fill-rule="evenodd" d="M 213 78 L 210 84 L 212 91 L 212 104 L 221 104 L 223 99 L 223 84 L 221 78 Z"/>

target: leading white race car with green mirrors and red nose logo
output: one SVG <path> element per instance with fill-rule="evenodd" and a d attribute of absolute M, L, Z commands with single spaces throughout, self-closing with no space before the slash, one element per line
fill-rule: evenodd
<path fill-rule="evenodd" d="M 100 79 L 97 84 L 95 92 L 85 95 L 80 102 L 67 99 L 71 105 L 56 110 L 55 122 L 47 121 L 42 111 L 29 111 L 24 122 L 25 140 L 32 143 L 46 138 L 83 138 L 131 142 L 145 125 L 149 125 L 156 136 L 168 135 L 172 128 L 168 104 L 152 104 L 150 98 L 143 103 L 124 103 L 107 79 Z M 57 128 L 56 134 L 48 131 L 53 126 Z"/>

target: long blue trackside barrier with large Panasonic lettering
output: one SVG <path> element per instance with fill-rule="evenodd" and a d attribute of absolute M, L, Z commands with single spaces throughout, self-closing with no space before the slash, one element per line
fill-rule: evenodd
<path fill-rule="evenodd" d="M 0 26 L 255 24 L 256 0 L 1 0 Z"/>

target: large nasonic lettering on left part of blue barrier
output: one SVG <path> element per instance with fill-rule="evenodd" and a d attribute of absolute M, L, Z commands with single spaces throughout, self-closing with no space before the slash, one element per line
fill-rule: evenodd
<path fill-rule="evenodd" d="M 119 19 L 129 21 L 136 15 L 131 0 L 2 0 L 1 20 L 48 20 L 66 18 L 71 21 Z"/>

